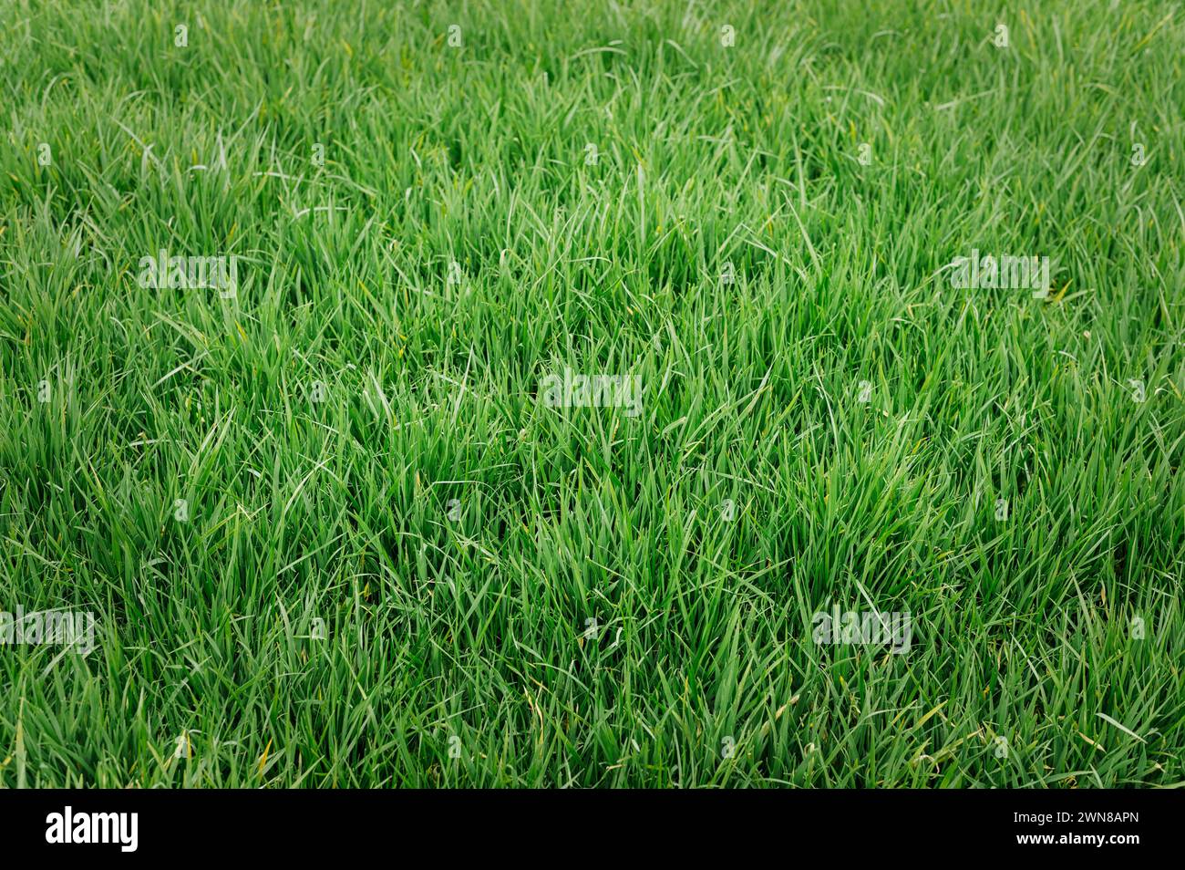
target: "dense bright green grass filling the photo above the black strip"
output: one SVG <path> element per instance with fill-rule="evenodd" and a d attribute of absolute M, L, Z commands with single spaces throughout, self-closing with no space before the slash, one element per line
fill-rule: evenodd
<path fill-rule="evenodd" d="M 0 786 L 1181 785 L 1183 47 L 0 0 Z"/>

